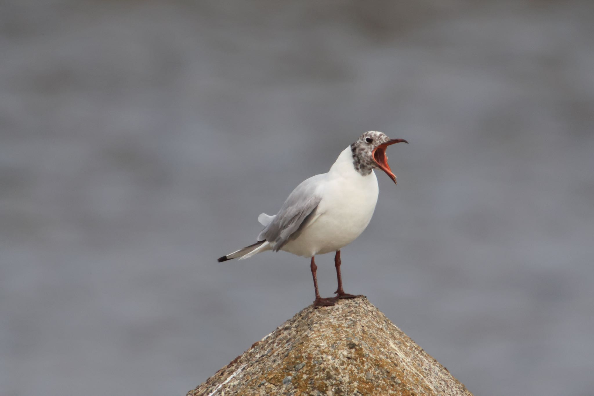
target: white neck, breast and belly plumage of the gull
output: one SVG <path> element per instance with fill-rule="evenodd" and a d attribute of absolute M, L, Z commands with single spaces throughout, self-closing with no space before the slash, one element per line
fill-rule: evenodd
<path fill-rule="evenodd" d="M 282 250 L 305 257 L 340 250 L 365 230 L 377 196 L 375 173 L 357 172 L 347 147 L 328 172 L 315 216 Z"/>

